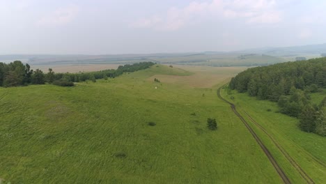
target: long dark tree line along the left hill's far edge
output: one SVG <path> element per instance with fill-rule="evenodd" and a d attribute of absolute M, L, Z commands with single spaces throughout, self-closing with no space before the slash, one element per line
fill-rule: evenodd
<path fill-rule="evenodd" d="M 22 61 L 14 61 L 12 63 L 0 62 L 0 86 L 24 86 L 28 84 L 55 84 L 58 86 L 73 86 L 74 82 L 84 82 L 96 79 L 114 78 L 122 75 L 124 72 L 134 72 L 143 70 L 153 66 L 153 62 L 141 62 L 119 66 L 116 70 L 101 70 L 98 72 L 79 72 L 79 73 L 55 73 L 49 68 L 47 73 L 42 70 L 31 70 L 29 64 L 23 64 Z"/>

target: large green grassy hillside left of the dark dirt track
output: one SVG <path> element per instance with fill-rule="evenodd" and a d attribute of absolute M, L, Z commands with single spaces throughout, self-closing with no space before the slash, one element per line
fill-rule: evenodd
<path fill-rule="evenodd" d="M 217 99 L 218 85 L 196 89 L 147 79 L 157 72 L 190 74 L 160 66 L 72 88 L 0 88 L 0 178 L 12 183 L 281 183 L 238 117 Z M 208 117 L 217 118 L 217 131 L 207 130 Z"/>

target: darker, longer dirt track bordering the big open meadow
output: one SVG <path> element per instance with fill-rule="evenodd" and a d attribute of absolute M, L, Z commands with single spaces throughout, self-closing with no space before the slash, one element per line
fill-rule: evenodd
<path fill-rule="evenodd" d="M 270 151 L 268 151 L 268 149 L 266 148 L 266 146 L 263 144 L 263 141 L 261 141 L 261 139 L 258 137 L 258 135 L 256 135 L 256 132 L 254 132 L 254 130 L 252 130 L 252 128 L 247 123 L 247 121 L 245 121 L 244 118 L 237 112 L 237 110 L 235 109 L 235 105 L 233 103 L 231 103 L 231 102 L 228 102 L 228 100 L 222 98 L 222 95 L 220 93 L 222 87 L 219 87 L 219 89 L 217 89 L 217 96 L 219 97 L 219 99 L 221 99 L 224 102 L 226 102 L 229 105 L 231 105 L 231 109 L 233 110 L 234 114 L 237 115 L 240 118 L 240 120 L 242 121 L 242 123 L 244 123 L 244 125 L 249 130 L 249 132 L 251 133 L 251 135 L 254 137 L 254 139 L 256 140 L 256 142 L 259 144 L 259 146 L 261 146 L 261 149 L 263 150 L 263 152 L 265 153 L 265 155 L 267 156 L 267 158 L 272 163 L 274 169 L 277 170 L 277 173 L 282 178 L 282 180 L 284 181 L 284 183 L 290 184 L 291 182 L 288 179 L 288 176 L 286 176 L 286 174 L 281 169 L 281 167 L 279 167 L 279 164 L 277 164 L 277 161 L 274 159 L 274 157 L 272 156 L 272 154 L 270 153 Z"/>

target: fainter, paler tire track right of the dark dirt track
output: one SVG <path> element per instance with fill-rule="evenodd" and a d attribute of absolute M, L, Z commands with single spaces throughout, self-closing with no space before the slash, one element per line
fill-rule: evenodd
<path fill-rule="evenodd" d="M 308 176 L 308 174 L 306 174 L 306 172 L 300 167 L 299 164 L 297 164 L 297 162 L 295 162 L 295 160 L 293 160 L 293 158 L 288 154 L 288 152 L 286 152 L 286 150 L 265 130 L 265 128 L 263 128 L 259 123 L 257 123 L 254 118 L 252 118 L 247 112 L 244 111 L 245 114 L 247 114 L 247 116 L 249 117 L 249 119 L 259 128 L 261 129 L 265 135 L 267 135 L 268 137 L 270 137 L 270 139 L 272 140 L 272 142 L 274 143 L 275 146 L 277 146 L 277 148 L 279 149 L 279 151 L 281 151 L 281 153 L 285 156 L 285 158 L 288 160 L 288 162 L 290 162 L 290 164 L 292 164 L 293 167 L 295 167 L 295 169 L 299 172 L 299 174 L 302 176 L 302 178 L 304 178 L 304 180 L 306 181 L 306 183 L 314 183 L 313 179 L 310 178 Z"/>

